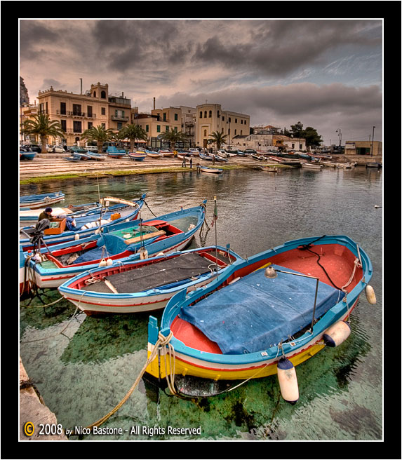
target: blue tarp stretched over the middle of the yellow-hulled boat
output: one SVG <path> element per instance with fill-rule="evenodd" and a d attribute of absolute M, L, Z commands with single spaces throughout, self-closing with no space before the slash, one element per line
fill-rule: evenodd
<path fill-rule="evenodd" d="M 277 273 L 277 278 L 264 276 L 264 269 L 250 273 L 186 306 L 180 318 L 198 327 L 225 354 L 254 353 L 277 345 L 311 323 L 316 292 L 313 278 Z M 320 281 L 315 318 L 343 297 L 343 292 Z"/>

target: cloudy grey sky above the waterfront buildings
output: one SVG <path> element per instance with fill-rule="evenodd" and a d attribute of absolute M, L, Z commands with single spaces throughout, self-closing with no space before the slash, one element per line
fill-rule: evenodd
<path fill-rule="evenodd" d="M 301 121 L 325 144 L 382 140 L 382 20 L 20 19 L 20 76 L 39 90 L 108 83 L 140 111 L 204 102 L 251 126 Z M 336 132 L 338 130 L 338 133 Z"/>

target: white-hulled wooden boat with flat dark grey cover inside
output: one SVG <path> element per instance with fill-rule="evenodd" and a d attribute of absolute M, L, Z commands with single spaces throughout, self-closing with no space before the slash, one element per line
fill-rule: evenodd
<path fill-rule="evenodd" d="M 176 292 L 210 283 L 239 259 L 221 246 L 178 251 L 85 271 L 58 290 L 88 316 L 154 311 L 165 308 Z"/>

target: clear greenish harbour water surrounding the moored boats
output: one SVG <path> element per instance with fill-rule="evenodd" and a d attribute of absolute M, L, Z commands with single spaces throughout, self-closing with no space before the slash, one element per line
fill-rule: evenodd
<path fill-rule="evenodd" d="M 216 176 L 186 170 L 20 187 L 22 195 L 58 190 L 66 194 L 65 205 L 96 201 L 98 195 L 138 198 L 146 192 L 156 216 L 207 198 L 208 225 L 216 196 L 217 243 L 230 243 L 243 257 L 295 238 L 346 234 L 373 263 L 370 284 L 377 297 L 373 306 L 361 295 L 344 344 L 326 347 L 297 366 L 300 400 L 295 406 L 281 399 L 276 377 L 201 400 L 156 394 L 141 381 L 102 425 L 123 428 L 123 434 L 83 439 L 382 439 L 382 208 L 374 207 L 382 205 L 382 170 L 298 169 L 276 175 L 229 170 Z M 154 216 L 145 207 L 142 217 Z M 215 227 L 197 234 L 191 247 L 214 243 Z M 59 297 L 57 290 L 46 292 L 43 302 Z M 58 423 L 64 428 L 93 424 L 120 402 L 145 364 L 149 314 L 93 318 L 81 313 L 72 319 L 75 308 L 64 299 L 41 306 L 37 298 L 20 306 L 22 362 Z M 153 316 L 160 319 L 161 314 Z M 170 434 L 169 427 L 201 427 L 201 435 Z"/>

